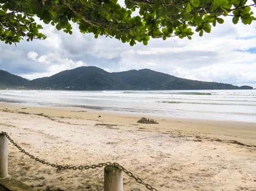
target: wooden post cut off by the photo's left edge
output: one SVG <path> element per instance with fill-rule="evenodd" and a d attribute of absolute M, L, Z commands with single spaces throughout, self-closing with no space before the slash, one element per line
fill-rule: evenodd
<path fill-rule="evenodd" d="M 0 133 L 0 178 L 8 175 L 8 141 L 5 134 Z"/>

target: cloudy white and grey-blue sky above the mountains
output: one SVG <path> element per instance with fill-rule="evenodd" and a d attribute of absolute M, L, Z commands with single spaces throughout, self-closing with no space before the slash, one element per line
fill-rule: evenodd
<path fill-rule="evenodd" d="M 254 10 L 254 15 L 256 10 Z M 45 40 L 13 45 L 0 41 L 0 69 L 36 79 L 62 70 L 94 65 L 104 70 L 126 71 L 149 68 L 186 79 L 251 85 L 256 88 L 256 22 L 223 25 L 192 40 L 177 37 L 151 39 L 147 46 L 130 46 L 116 39 L 57 31 L 43 25 Z"/>

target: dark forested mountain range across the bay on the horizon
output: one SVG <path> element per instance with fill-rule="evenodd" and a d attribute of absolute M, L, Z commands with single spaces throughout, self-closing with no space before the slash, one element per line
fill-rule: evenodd
<path fill-rule="evenodd" d="M 79 67 L 32 81 L 0 70 L 0 88 L 116 90 L 116 89 L 252 89 L 227 83 L 187 80 L 150 69 L 109 73 L 97 67 Z"/>

